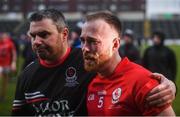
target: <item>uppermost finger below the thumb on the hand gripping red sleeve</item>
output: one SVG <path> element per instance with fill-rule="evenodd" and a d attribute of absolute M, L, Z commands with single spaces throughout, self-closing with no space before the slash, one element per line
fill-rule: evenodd
<path fill-rule="evenodd" d="M 152 96 L 156 93 L 159 93 L 160 91 L 163 91 L 165 89 L 168 89 L 169 85 L 167 84 L 160 84 L 156 87 L 154 87 L 149 93 L 148 93 L 148 96 Z"/>

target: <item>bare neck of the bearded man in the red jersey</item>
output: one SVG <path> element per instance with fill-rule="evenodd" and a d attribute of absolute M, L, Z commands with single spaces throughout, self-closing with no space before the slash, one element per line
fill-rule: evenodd
<path fill-rule="evenodd" d="M 98 71 L 98 74 L 102 77 L 112 75 L 120 61 L 121 57 L 119 53 L 114 54 L 113 57 L 107 61 L 107 63 L 101 66 L 102 69 Z"/>

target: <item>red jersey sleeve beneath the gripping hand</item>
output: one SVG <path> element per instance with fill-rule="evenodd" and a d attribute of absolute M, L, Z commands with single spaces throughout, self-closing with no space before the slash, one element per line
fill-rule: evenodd
<path fill-rule="evenodd" d="M 146 82 L 141 89 L 137 92 L 137 95 L 135 97 L 135 102 L 140 111 L 144 116 L 150 116 L 150 115 L 158 115 L 160 114 L 164 109 L 170 106 L 170 104 L 167 104 L 165 106 L 161 107 L 149 107 L 146 103 L 146 96 L 147 94 L 158 85 L 158 81 L 149 78 L 149 81 Z"/>

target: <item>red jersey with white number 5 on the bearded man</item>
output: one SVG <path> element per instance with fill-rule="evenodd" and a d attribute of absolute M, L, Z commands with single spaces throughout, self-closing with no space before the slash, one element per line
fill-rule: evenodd
<path fill-rule="evenodd" d="M 145 98 L 158 85 L 151 72 L 124 58 L 108 77 L 96 76 L 88 87 L 88 115 L 157 115 L 169 105 L 147 107 Z"/>

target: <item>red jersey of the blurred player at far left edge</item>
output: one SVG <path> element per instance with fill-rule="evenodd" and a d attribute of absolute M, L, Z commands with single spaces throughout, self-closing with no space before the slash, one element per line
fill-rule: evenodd
<path fill-rule="evenodd" d="M 9 38 L 0 40 L 0 66 L 11 65 L 13 50 L 15 50 L 15 46 Z"/>

